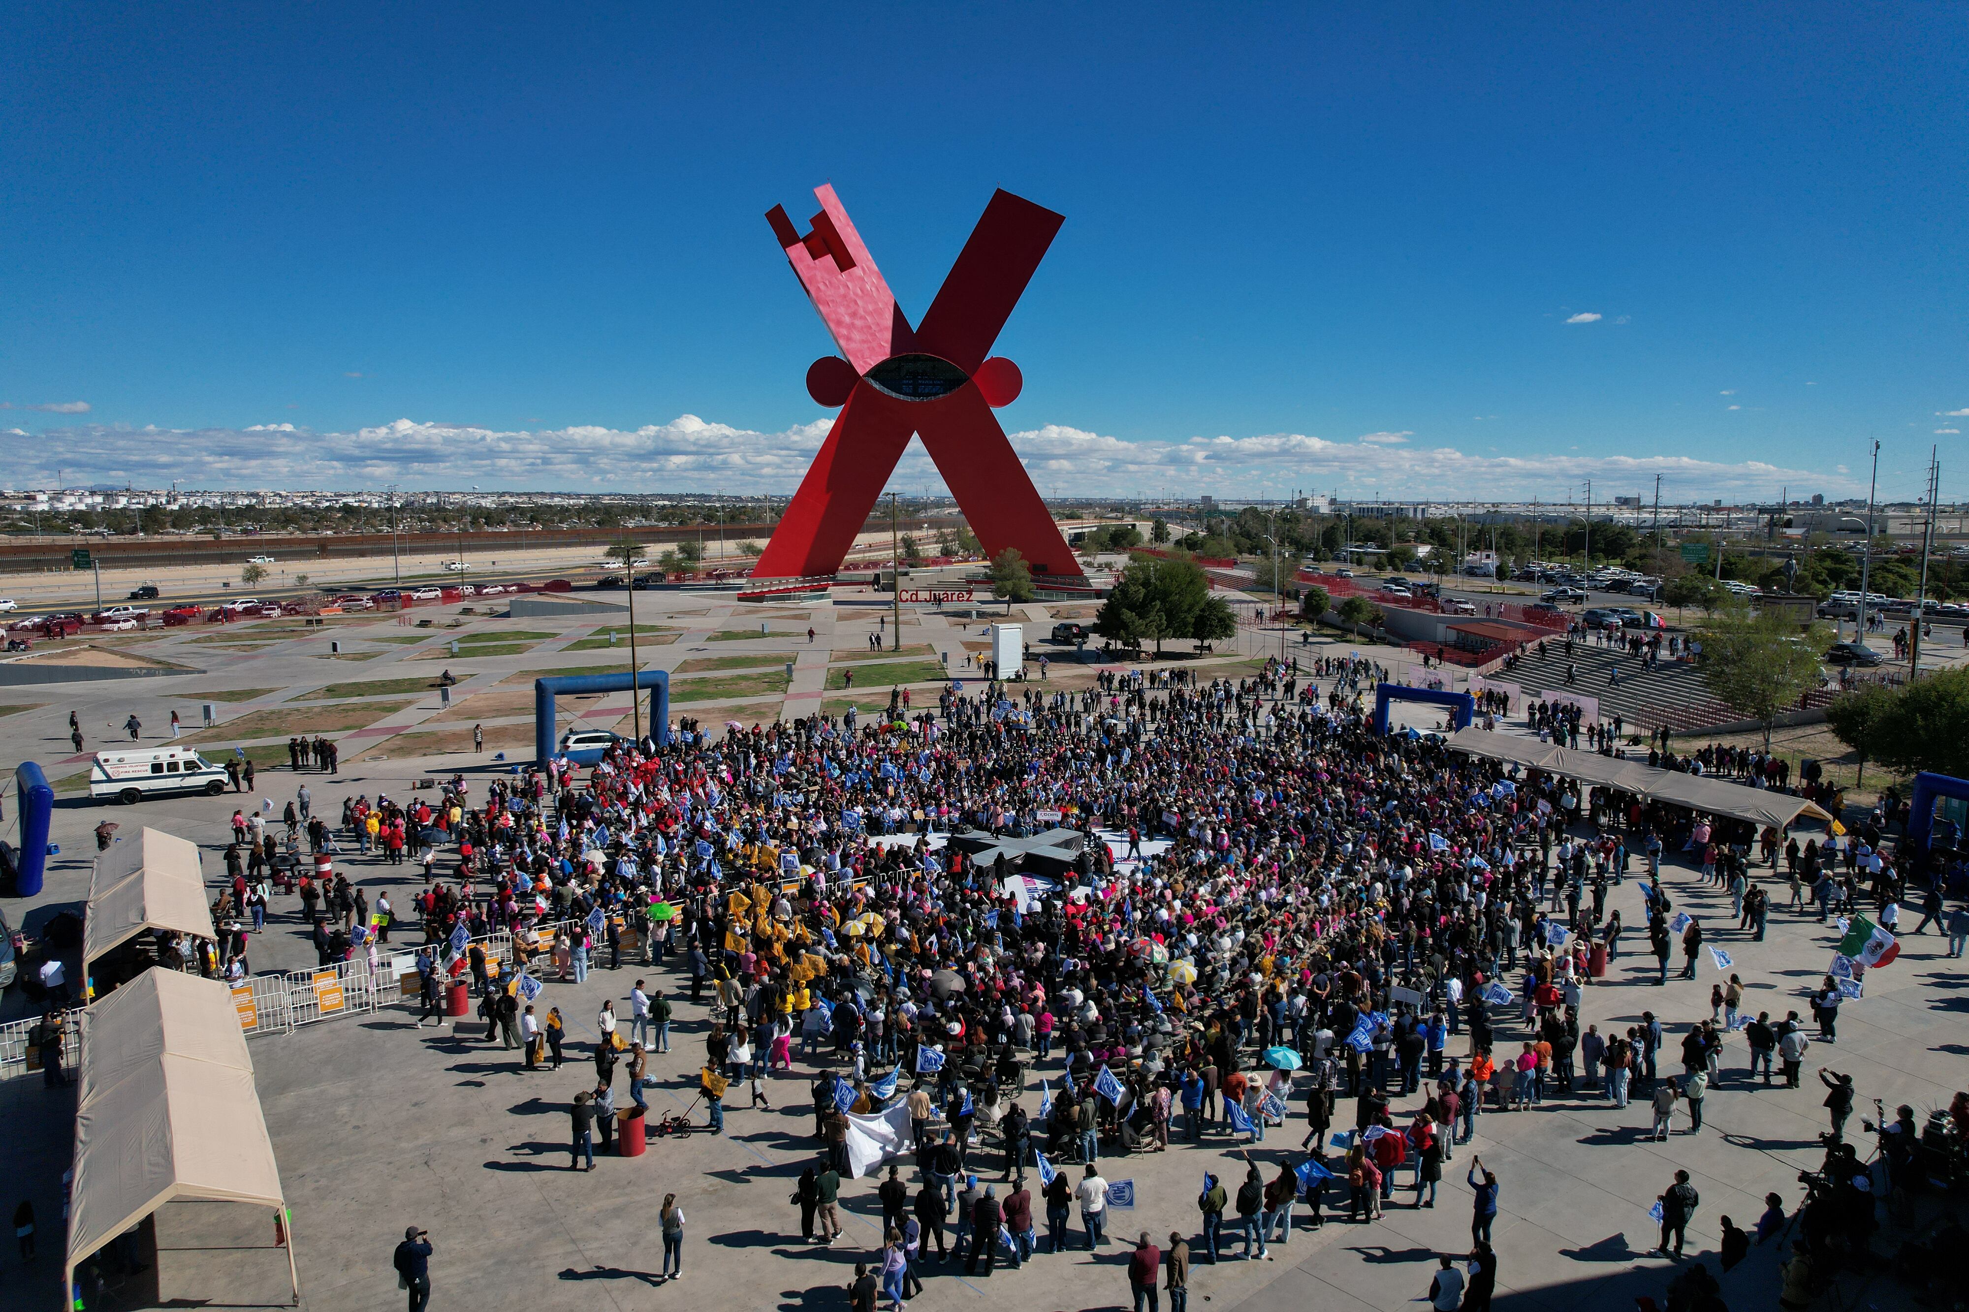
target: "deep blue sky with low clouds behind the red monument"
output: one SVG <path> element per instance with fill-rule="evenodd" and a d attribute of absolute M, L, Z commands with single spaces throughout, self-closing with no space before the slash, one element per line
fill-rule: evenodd
<path fill-rule="evenodd" d="M 1969 494 L 1961 6 L 721 8 L 18 8 L 0 483 L 790 491 L 831 181 L 1042 491 Z"/>

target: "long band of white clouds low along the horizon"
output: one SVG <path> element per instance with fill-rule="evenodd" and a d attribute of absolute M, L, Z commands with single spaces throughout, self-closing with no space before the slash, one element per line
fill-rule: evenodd
<path fill-rule="evenodd" d="M 16 479 L 65 477 L 163 487 L 512 491 L 790 492 L 807 473 L 833 416 L 760 433 L 697 416 L 636 429 L 575 426 L 490 429 L 471 424 L 396 420 L 356 431 L 313 431 L 286 424 L 213 429 L 134 429 L 83 424 L 41 433 L 16 457 Z M 1386 433 L 1368 433 L 1384 437 Z M 1394 435 L 1412 437 L 1396 431 Z M 1296 487 L 1353 485 L 1380 496 L 1518 498 L 1557 485 L 1605 479 L 1640 485 L 1656 473 L 1717 496 L 1792 487 L 1847 492 L 1847 479 L 1760 461 L 1721 463 L 1682 455 L 1581 455 L 1571 451 L 1487 455 L 1410 441 L 1333 441 L 1311 433 L 1197 435 L 1124 441 L 1048 424 L 1010 435 L 1034 483 L 1061 492 L 1278 494 Z M 1591 451 L 1591 443 L 1587 445 Z M 43 465 L 45 461 L 45 465 Z M 1841 471 L 1843 473 L 1843 471 Z M 941 487 L 920 441 L 902 457 L 892 487 Z M 1865 489 L 1861 489 L 1865 491 Z"/>

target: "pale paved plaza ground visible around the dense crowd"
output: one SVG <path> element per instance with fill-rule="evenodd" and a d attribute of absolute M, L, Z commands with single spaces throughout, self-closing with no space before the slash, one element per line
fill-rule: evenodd
<path fill-rule="evenodd" d="M 1012 619 L 1028 623 L 1028 636 L 1044 636 L 1055 615 L 1069 611 L 1018 607 Z M 171 709 L 179 709 L 185 731 L 193 733 L 201 699 L 221 697 L 224 723 L 193 741 L 211 745 L 215 754 L 246 747 L 262 764 L 258 796 L 272 800 L 276 812 L 305 782 L 315 810 L 333 820 L 345 796 L 386 792 L 402 798 L 419 778 L 457 770 L 484 778 L 526 760 L 532 680 L 540 672 L 589 670 L 604 660 L 622 668 L 626 654 L 626 630 L 608 619 L 475 615 L 447 628 L 461 619 L 455 607 L 413 617 L 437 624 L 427 630 L 402 626 L 396 617 L 362 617 L 329 632 L 286 632 L 280 621 L 262 628 L 169 630 L 146 640 L 144 650 L 171 662 L 195 660 L 211 674 L 65 686 L 51 689 L 53 695 L 49 689 L 10 693 L 10 701 L 37 705 L 0 717 L 8 756 L 39 758 L 49 776 L 67 786 L 57 800 L 61 855 L 51 861 L 47 890 L 26 906 L 10 902 L 8 914 L 26 914 L 32 924 L 79 902 L 95 847 L 91 829 L 98 820 L 112 820 L 126 831 L 148 823 L 193 837 L 207 849 L 207 875 L 217 877 L 226 821 L 234 806 L 248 802 L 228 794 L 136 808 L 85 804 L 73 786 L 87 756 L 69 749 L 71 709 L 85 723 L 87 751 L 95 751 L 114 741 L 106 725 L 122 723 L 132 711 L 144 721 L 146 743 L 167 737 Z M 908 615 L 904 650 L 874 652 L 868 634 L 886 636 L 886 617 L 888 609 L 872 593 L 841 593 L 833 605 L 766 609 L 675 595 L 654 597 L 646 609 L 638 599 L 638 621 L 652 626 L 644 666 L 671 670 L 673 715 L 695 715 L 707 725 L 815 709 L 839 713 L 849 703 L 866 711 L 886 703 L 892 682 L 912 686 L 921 695 L 920 705 L 933 707 L 937 670 L 963 676 L 965 658 L 983 650 L 979 628 L 988 623 Z M 758 636 L 762 623 L 766 636 Z M 809 626 L 815 630 L 811 642 Z M 622 632 L 624 646 L 608 648 L 610 628 Z M 215 636 L 226 640 L 213 642 Z M 1256 656 L 1278 650 L 1278 638 L 1248 636 L 1242 650 L 1225 644 L 1223 654 L 1199 666 L 1199 676 L 1246 678 Z M 337 660 L 327 650 L 331 640 L 343 642 L 343 656 L 360 658 Z M 459 656 L 451 654 L 455 640 Z M 1296 644 L 1296 636 L 1292 640 Z M 520 650 L 473 654 L 475 646 Z M 1077 668 L 1071 648 L 1040 644 L 1036 650 L 1055 656 L 1049 684 L 1075 688 L 1093 678 L 1095 666 Z M 794 664 L 790 682 L 788 660 Z M 461 682 L 451 703 L 441 705 L 431 684 L 447 668 Z M 847 670 L 864 672 L 853 689 L 843 688 Z M 583 725 L 616 727 L 628 717 L 628 701 L 626 695 L 573 705 L 563 699 L 561 711 L 563 719 L 575 715 Z M 329 717 L 339 717 L 333 727 Z M 482 753 L 471 751 L 475 723 L 484 733 Z M 286 737 L 297 731 L 339 739 L 341 770 L 291 774 Z M 498 751 L 506 753 L 506 762 L 494 760 Z M 392 888 L 400 906 L 408 906 L 410 892 L 421 886 L 413 865 L 392 869 L 345 853 L 339 869 L 370 896 Z M 1733 969 L 1748 987 L 1748 1009 L 1808 1015 L 1806 991 L 1819 981 L 1839 938 L 1831 924 L 1774 910 L 1770 936 L 1750 942 L 1747 932 L 1735 930 L 1727 894 L 1703 886 L 1685 865 L 1664 869 L 1664 883 L 1680 908 L 1711 926 L 1711 942 L 1735 957 Z M 1613 888 L 1609 908 L 1619 908 L 1630 926 L 1644 924 L 1634 881 Z M 252 967 L 311 965 L 297 900 L 278 896 L 274 910 L 266 934 L 252 942 Z M 1630 934 L 1628 944 L 1638 946 L 1642 938 Z M 683 1300 L 746 1308 L 847 1306 L 843 1286 L 855 1261 L 874 1257 L 880 1247 L 880 1208 L 874 1180 L 855 1182 L 843 1190 L 845 1237 L 831 1247 L 799 1241 L 799 1210 L 788 1194 L 817 1152 L 809 1093 L 817 1066 L 811 1062 L 799 1062 L 794 1078 L 768 1085 L 770 1109 L 744 1107 L 744 1085 L 734 1083 L 727 1099 L 729 1133 L 721 1139 L 703 1133 L 652 1139 L 640 1158 L 599 1154 L 593 1174 L 567 1168 L 567 1103 L 573 1093 L 593 1087 L 589 1056 L 601 1003 L 614 999 L 626 1015 L 626 995 L 638 977 L 671 997 L 687 993 L 677 969 L 628 961 L 608 969 L 603 955 L 603 969 L 587 983 L 549 979 L 540 999 L 541 1011 L 553 1005 L 569 1017 L 569 1066 L 559 1072 L 524 1072 L 516 1050 L 482 1042 L 480 1022 L 419 1028 L 412 1011 L 345 1017 L 252 1040 L 262 1107 L 293 1210 L 303 1306 L 398 1306 L 402 1294 L 390 1251 L 410 1223 L 427 1227 L 435 1245 L 433 1308 L 660 1308 Z M 1469 1249 L 1471 1192 L 1463 1172 L 1473 1152 L 1502 1184 L 1494 1229 L 1498 1306 L 1624 1312 L 1636 1294 L 1660 1300 L 1676 1267 L 1648 1257 L 1656 1241 L 1648 1208 L 1676 1168 L 1689 1170 L 1701 1192 L 1689 1245 L 1703 1249 L 1711 1263 L 1721 1215 L 1748 1227 L 1764 1210 L 1766 1192 L 1782 1194 L 1788 1206 L 1800 1202 L 1796 1176 L 1819 1164 L 1815 1137 L 1825 1129 L 1823 1091 L 1811 1078 L 1815 1066 L 1853 1074 L 1865 1109 L 1878 1097 L 1888 1109 L 1912 1103 L 1924 1117 L 1969 1085 L 1969 991 L 1961 967 L 1963 961 L 1943 957 L 1939 936 L 1904 938 L 1900 959 L 1871 973 L 1865 999 L 1843 1009 L 1837 1046 L 1815 1044 L 1808 1054 L 1808 1082 L 1796 1091 L 1752 1085 L 1745 1078 L 1743 1042 L 1733 1036 L 1723 1058 L 1725 1078 L 1709 1097 L 1701 1133 L 1685 1133 L 1687 1121 L 1678 1113 L 1678 1133 L 1668 1143 L 1650 1143 L 1642 1099 L 1620 1111 L 1587 1091 L 1548 1097 L 1524 1113 L 1481 1115 L 1475 1143 L 1459 1147 L 1445 1166 L 1433 1210 L 1414 1208 L 1414 1194 L 1400 1188 L 1384 1219 L 1353 1225 L 1335 1219 L 1345 1217 L 1345 1208 L 1335 1210 L 1329 1198 L 1327 1223 L 1309 1229 L 1302 1206 L 1296 1233 L 1274 1245 L 1268 1259 L 1229 1257 L 1217 1267 L 1197 1261 L 1193 1306 L 1207 1302 L 1252 1312 L 1424 1306 L 1418 1300 L 1428 1290 L 1435 1255 Z M 1654 1011 L 1668 1026 L 1668 1066 L 1683 1028 L 1709 1017 L 1715 973 L 1705 953 L 1695 981 L 1672 979 L 1656 987 L 1652 979 L 1652 957 L 1622 953 L 1607 979 L 1585 991 L 1579 1022 L 1599 1024 L 1605 1034 L 1638 1022 L 1644 1009 Z M 8 1017 L 20 1015 L 18 991 L 8 1005 Z M 673 1050 L 652 1058 L 650 1076 L 658 1080 L 650 1089 L 652 1115 L 681 1111 L 695 1093 L 705 1009 L 681 1003 L 677 1013 Z M 1514 1009 L 1498 1009 L 1498 1052 L 1514 1052 L 1520 1034 L 1516 1017 L 1506 1013 Z M 1461 1056 L 1465 1042 L 1453 1036 L 1449 1050 Z M 1040 1080 L 1057 1083 L 1057 1058 L 1028 1076 L 1022 1095 L 1028 1111 L 1040 1101 Z M 24 1269 L 8 1255 L 0 1267 L 0 1290 L 6 1290 L 0 1304 L 53 1308 L 61 1298 L 61 1243 L 51 1217 L 61 1214 L 73 1097 L 43 1089 L 39 1080 L 16 1078 L 0 1083 L 0 1099 L 10 1125 L 8 1174 L 43 1217 L 37 1265 Z M 1398 1099 L 1396 1121 L 1418 1105 L 1420 1095 Z M 1351 1099 L 1343 1097 L 1337 1123 L 1351 1123 Z M 703 1123 L 701 1105 L 695 1119 Z M 1069 1253 L 1042 1253 L 1022 1271 L 1000 1267 L 988 1279 L 931 1261 L 925 1292 L 912 1302 L 969 1308 L 1010 1296 L 1016 1306 L 1036 1310 L 1128 1306 L 1124 1241 L 1146 1229 L 1166 1243 L 1175 1229 L 1195 1245 L 1203 1172 L 1213 1170 L 1235 1186 L 1248 1152 L 1270 1176 L 1296 1152 L 1303 1133 L 1303 1099 L 1294 1099 L 1288 1125 L 1270 1129 L 1264 1143 L 1248 1148 L 1242 1137 L 1219 1129 L 1201 1145 L 1185 1145 L 1175 1135 L 1168 1152 L 1105 1160 L 1109 1180 L 1136 1182 L 1138 1206 L 1112 1217 L 1103 1249 L 1083 1251 L 1075 1217 Z M 1002 1174 L 998 1152 L 977 1150 L 973 1170 L 981 1182 L 996 1182 Z M 669 1192 L 687 1214 L 681 1286 L 660 1284 L 654 1275 L 662 1247 L 656 1212 Z M 1924 1212 L 1922 1221 L 1928 1219 L 1932 1214 Z M 260 1212 L 205 1204 L 169 1208 L 159 1217 L 163 1302 L 284 1304 L 286 1257 L 268 1247 L 268 1231 Z M 1898 1237 L 1888 1223 L 1876 1247 L 1888 1249 Z M 1231 1241 L 1225 1251 L 1240 1247 Z M 1774 1247 L 1754 1251 L 1723 1279 L 1733 1308 L 1776 1306 Z M 1193 1259 L 1201 1259 L 1195 1247 Z M 1910 1306 L 1904 1290 L 1884 1275 L 1847 1277 L 1841 1298 L 1845 1306 Z"/>

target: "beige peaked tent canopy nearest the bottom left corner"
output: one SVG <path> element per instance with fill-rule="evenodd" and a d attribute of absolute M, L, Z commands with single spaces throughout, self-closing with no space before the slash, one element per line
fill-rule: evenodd
<path fill-rule="evenodd" d="M 91 1253 L 177 1200 L 286 1214 L 232 993 L 144 971 L 83 1013 L 63 1290 Z M 299 1304 L 291 1233 L 287 1277 Z"/>

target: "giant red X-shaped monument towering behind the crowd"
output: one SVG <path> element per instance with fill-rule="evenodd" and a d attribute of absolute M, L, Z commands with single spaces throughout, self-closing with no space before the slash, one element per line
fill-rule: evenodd
<path fill-rule="evenodd" d="M 1018 400 L 1022 378 L 1018 364 L 990 355 L 990 345 L 1065 219 L 1010 191 L 994 193 L 923 323 L 910 327 L 835 189 L 813 195 L 821 213 L 805 236 L 784 207 L 766 223 L 841 349 L 807 368 L 807 394 L 841 406 L 841 416 L 752 577 L 841 569 L 912 433 L 921 435 L 988 556 L 1018 548 L 1036 575 L 1079 575 L 992 414 Z"/>

